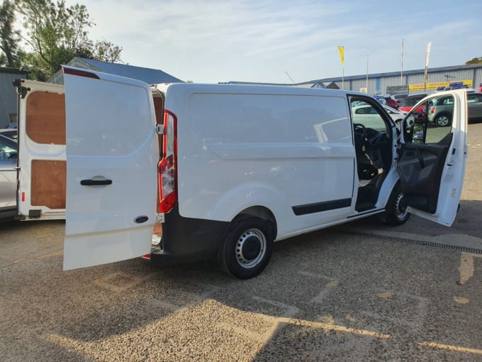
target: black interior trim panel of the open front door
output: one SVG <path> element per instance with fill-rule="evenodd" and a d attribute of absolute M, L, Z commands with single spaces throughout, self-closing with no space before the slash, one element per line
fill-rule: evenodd
<path fill-rule="evenodd" d="M 397 168 L 409 206 L 431 214 L 437 211 L 440 179 L 451 142 L 452 133 L 448 133 L 439 143 L 403 145 Z"/>

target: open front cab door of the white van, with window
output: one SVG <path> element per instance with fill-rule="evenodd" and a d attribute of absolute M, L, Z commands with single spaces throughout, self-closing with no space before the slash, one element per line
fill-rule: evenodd
<path fill-rule="evenodd" d="M 467 159 L 466 91 L 433 94 L 413 110 L 419 113 L 405 118 L 397 166 L 405 203 L 413 214 L 452 226 Z"/>

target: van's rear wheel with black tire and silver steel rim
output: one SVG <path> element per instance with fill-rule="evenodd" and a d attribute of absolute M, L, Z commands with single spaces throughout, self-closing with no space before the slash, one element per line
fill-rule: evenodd
<path fill-rule="evenodd" d="M 238 216 L 220 246 L 220 268 L 236 278 L 253 278 L 268 265 L 273 244 L 273 223 L 256 216 Z"/>

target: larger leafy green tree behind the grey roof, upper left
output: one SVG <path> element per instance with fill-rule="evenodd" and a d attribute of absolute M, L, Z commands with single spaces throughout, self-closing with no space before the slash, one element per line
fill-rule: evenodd
<path fill-rule="evenodd" d="M 35 79 L 46 80 L 73 57 L 121 62 L 122 48 L 107 40 L 92 41 L 88 28 L 94 26 L 86 6 L 65 6 L 64 0 L 17 0 L 26 29 L 24 40 L 33 52 L 25 57 Z"/>

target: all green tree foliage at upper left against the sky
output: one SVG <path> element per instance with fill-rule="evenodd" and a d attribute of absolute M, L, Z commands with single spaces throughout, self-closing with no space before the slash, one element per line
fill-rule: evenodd
<path fill-rule="evenodd" d="M 14 30 L 15 14 L 23 33 Z M 4 1 L 0 7 L 0 66 L 29 67 L 30 78 L 47 80 L 73 57 L 122 62 L 122 48 L 108 40 L 91 40 L 94 26 L 86 6 L 66 6 L 65 0 Z M 28 52 L 18 47 L 26 41 Z"/>

